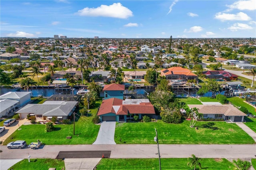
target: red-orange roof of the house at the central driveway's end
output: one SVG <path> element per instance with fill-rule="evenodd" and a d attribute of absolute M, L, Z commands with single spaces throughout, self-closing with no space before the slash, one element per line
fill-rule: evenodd
<path fill-rule="evenodd" d="M 117 98 L 103 100 L 97 115 L 100 116 L 108 113 L 114 113 L 116 115 L 156 114 L 154 106 L 150 102 L 123 104 L 123 101 L 124 100 Z"/>

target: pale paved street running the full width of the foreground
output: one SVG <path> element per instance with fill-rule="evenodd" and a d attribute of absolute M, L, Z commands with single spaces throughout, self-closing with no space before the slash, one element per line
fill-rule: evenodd
<path fill-rule="evenodd" d="M 160 144 L 161 158 L 255 158 L 256 144 Z M 110 158 L 158 158 L 156 144 L 46 145 L 42 149 L 8 149 L 1 146 L 1 159 L 56 158 L 59 151 L 111 150 Z"/>

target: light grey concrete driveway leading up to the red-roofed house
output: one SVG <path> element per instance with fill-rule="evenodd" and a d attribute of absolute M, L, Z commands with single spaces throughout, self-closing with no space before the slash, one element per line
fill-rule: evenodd
<path fill-rule="evenodd" d="M 93 144 L 116 144 L 114 140 L 116 122 L 104 121 L 100 125 L 97 139 Z"/>

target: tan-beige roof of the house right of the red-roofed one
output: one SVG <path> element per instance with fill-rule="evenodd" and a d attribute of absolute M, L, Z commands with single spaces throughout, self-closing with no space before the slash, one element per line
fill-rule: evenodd
<path fill-rule="evenodd" d="M 202 114 L 223 114 L 225 116 L 246 116 L 242 111 L 233 105 L 188 105 L 190 108 L 196 107 Z"/>

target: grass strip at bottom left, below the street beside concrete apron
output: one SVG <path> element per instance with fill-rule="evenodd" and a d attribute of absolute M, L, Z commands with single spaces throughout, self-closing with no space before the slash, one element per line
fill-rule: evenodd
<path fill-rule="evenodd" d="M 57 159 L 24 159 L 14 166 L 10 167 L 8 170 L 48 170 L 49 168 L 56 168 L 56 170 L 65 169 L 64 160 Z"/>

